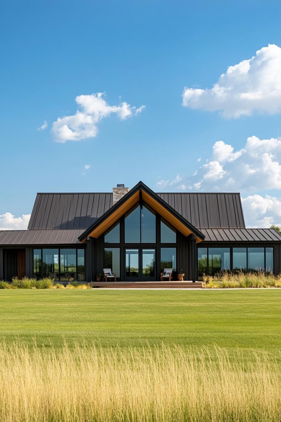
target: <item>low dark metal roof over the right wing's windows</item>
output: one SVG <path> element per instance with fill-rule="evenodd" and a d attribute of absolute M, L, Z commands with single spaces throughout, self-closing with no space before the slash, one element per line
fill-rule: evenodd
<path fill-rule="evenodd" d="M 281 242 L 274 229 L 202 229 L 204 242 Z"/>

